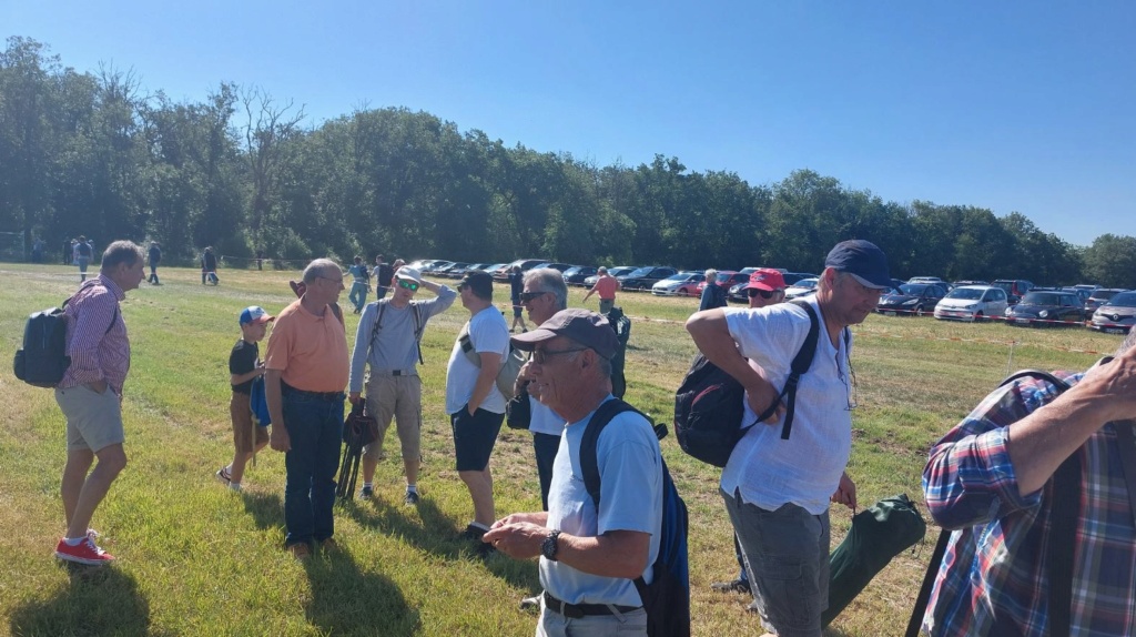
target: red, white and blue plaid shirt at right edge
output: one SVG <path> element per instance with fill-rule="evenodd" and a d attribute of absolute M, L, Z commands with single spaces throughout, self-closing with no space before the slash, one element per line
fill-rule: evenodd
<path fill-rule="evenodd" d="M 1081 378 L 1056 376 L 1069 384 Z M 924 469 L 927 506 L 943 528 L 957 530 L 924 615 L 925 634 L 1049 632 L 1053 480 L 1037 493 L 1018 494 L 1006 430 L 1056 395 L 1047 383 L 1019 379 L 986 396 L 932 449 Z M 1136 620 L 1136 529 L 1116 439 L 1106 425 L 1077 451 L 1084 487 L 1074 558 L 1074 636 L 1131 635 Z"/>

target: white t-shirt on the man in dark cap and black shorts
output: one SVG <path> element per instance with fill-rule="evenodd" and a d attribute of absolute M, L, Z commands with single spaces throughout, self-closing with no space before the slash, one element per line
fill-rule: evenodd
<path fill-rule="evenodd" d="M 495 353 L 501 357 L 501 363 L 504 364 L 504 357 L 509 351 L 509 325 L 504 322 L 501 311 L 490 305 L 470 317 L 466 326 L 474 351 Z M 445 370 L 446 413 L 458 413 L 469 403 L 469 399 L 474 395 L 474 386 L 477 384 L 477 376 L 481 372 L 481 368 L 470 362 L 466 353 L 461 351 L 461 340 L 454 341 L 453 351 L 450 352 L 450 364 Z M 504 396 L 501 395 L 501 391 L 496 388 L 496 382 L 494 382 L 490 387 L 488 395 L 478 408 L 493 413 L 504 413 Z"/>

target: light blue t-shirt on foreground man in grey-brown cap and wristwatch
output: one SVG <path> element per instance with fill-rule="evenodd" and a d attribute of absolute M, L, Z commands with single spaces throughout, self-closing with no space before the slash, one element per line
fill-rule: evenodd
<path fill-rule="evenodd" d="M 651 550 L 643 572 L 650 584 L 651 565 L 659 555 L 662 534 L 659 439 L 651 424 L 635 412 L 624 412 L 611 419 L 596 442 L 600 469 L 600 512 L 596 516 L 579 466 L 579 445 L 592 413 L 570 422 L 560 437 L 560 450 L 552 464 L 546 526 L 579 537 L 598 537 L 613 530 L 651 534 Z M 585 573 L 543 556 L 540 568 L 544 589 L 569 604 L 642 605 L 630 579 Z"/>

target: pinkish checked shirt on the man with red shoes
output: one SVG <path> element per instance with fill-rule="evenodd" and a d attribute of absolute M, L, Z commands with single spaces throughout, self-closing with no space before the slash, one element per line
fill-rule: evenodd
<path fill-rule="evenodd" d="M 106 380 L 115 394 L 123 395 L 123 384 L 131 369 L 126 321 L 118 311 L 118 302 L 125 297 L 115 282 L 100 274 L 80 286 L 67 302 L 64 313 L 67 316 L 67 355 L 72 362 L 59 382 L 61 389 Z"/>

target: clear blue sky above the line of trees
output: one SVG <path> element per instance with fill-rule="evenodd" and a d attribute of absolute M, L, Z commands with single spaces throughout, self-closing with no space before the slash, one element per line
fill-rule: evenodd
<path fill-rule="evenodd" d="M 1136 236 L 1136 2 L 0 2 L 0 35 L 201 101 L 425 110 L 507 145 L 771 184 L 797 168 Z"/>

